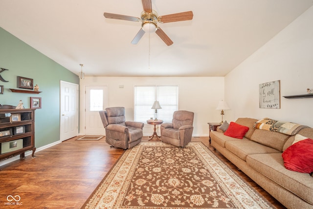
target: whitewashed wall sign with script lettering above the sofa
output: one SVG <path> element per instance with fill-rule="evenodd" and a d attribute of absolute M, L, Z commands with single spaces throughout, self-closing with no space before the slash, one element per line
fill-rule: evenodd
<path fill-rule="evenodd" d="M 260 108 L 280 109 L 280 80 L 259 85 Z"/>

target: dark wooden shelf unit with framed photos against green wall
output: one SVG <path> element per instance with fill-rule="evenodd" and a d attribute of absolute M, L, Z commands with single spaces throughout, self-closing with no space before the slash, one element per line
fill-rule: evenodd
<path fill-rule="evenodd" d="M 0 109 L 0 161 L 17 155 L 23 159 L 28 150 L 35 157 L 35 110 Z M 12 121 L 12 116 L 18 121 Z"/>

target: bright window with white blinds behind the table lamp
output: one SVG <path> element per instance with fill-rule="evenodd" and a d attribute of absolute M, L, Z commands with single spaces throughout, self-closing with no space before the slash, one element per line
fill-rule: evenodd
<path fill-rule="evenodd" d="M 162 109 L 151 109 L 158 101 Z M 178 110 L 178 86 L 135 86 L 134 121 L 146 123 L 151 117 L 172 122 L 173 113 Z"/>

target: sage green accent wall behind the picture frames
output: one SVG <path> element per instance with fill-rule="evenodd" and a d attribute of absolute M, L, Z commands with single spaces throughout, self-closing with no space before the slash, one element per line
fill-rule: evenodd
<path fill-rule="evenodd" d="M 60 81 L 79 84 L 77 75 L 25 44 L 0 27 L 0 73 L 4 80 L 0 104 L 17 106 L 22 100 L 30 108 L 30 97 L 41 97 L 42 108 L 35 111 L 35 146 L 37 148 L 60 140 Z M 17 76 L 34 79 L 39 94 L 13 93 Z"/>

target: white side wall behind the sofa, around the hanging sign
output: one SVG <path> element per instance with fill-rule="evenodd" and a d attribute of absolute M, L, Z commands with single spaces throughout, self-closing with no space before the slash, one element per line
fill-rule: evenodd
<path fill-rule="evenodd" d="M 244 47 L 244 46 L 243 46 Z M 280 80 L 281 108 L 259 108 L 259 84 Z M 286 99 L 313 89 L 313 7 L 225 76 L 229 117 L 296 122 L 313 127 L 313 98 Z"/>

